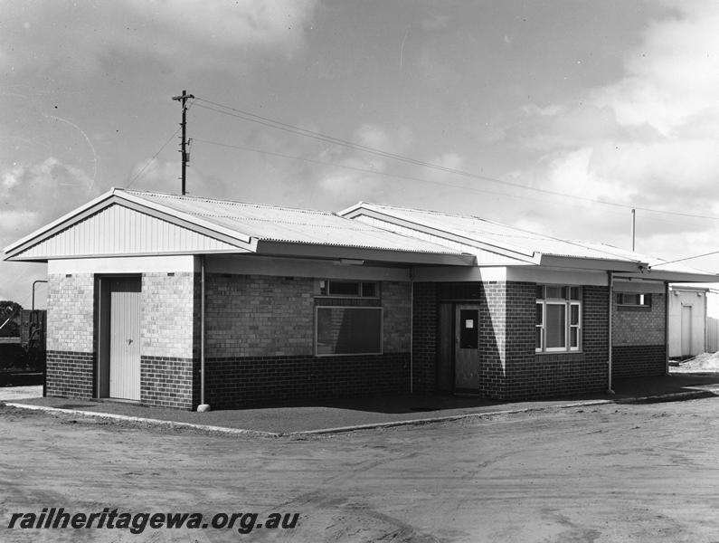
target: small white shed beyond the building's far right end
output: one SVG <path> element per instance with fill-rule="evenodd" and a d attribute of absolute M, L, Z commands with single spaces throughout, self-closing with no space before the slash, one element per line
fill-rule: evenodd
<path fill-rule="evenodd" d="M 712 349 L 708 344 L 707 303 L 709 289 L 669 286 L 669 357 L 695 357 Z M 714 326 L 715 331 L 715 326 Z M 714 334 L 714 344 L 716 335 Z"/>

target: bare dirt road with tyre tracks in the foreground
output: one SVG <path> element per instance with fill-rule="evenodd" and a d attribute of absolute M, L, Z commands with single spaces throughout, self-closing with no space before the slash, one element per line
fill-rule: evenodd
<path fill-rule="evenodd" d="M 711 398 L 290 440 L 2 408 L 0 540 L 719 541 L 717 415 Z M 7 529 L 43 507 L 300 516 L 248 534 Z"/>

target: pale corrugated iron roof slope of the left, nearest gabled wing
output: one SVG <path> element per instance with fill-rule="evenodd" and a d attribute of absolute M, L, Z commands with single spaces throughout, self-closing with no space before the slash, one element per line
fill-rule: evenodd
<path fill-rule="evenodd" d="M 120 192 L 134 195 L 150 205 L 162 205 L 260 241 L 459 254 L 456 250 L 438 243 L 387 232 L 324 211 L 248 204 L 198 196 L 129 190 L 118 191 Z"/>

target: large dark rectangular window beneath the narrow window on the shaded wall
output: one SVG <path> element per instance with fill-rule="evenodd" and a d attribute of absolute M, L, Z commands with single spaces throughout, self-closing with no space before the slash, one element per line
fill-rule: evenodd
<path fill-rule="evenodd" d="M 381 355 L 381 307 L 317 306 L 315 354 Z"/>

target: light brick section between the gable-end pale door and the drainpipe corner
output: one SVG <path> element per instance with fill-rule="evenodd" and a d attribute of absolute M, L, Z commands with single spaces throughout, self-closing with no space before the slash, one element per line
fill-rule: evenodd
<path fill-rule="evenodd" d="M 194 356 L 196 274 L 142 274 L 142 356 Z M 198 327 L 199 328 L 199 327 Z"/>

